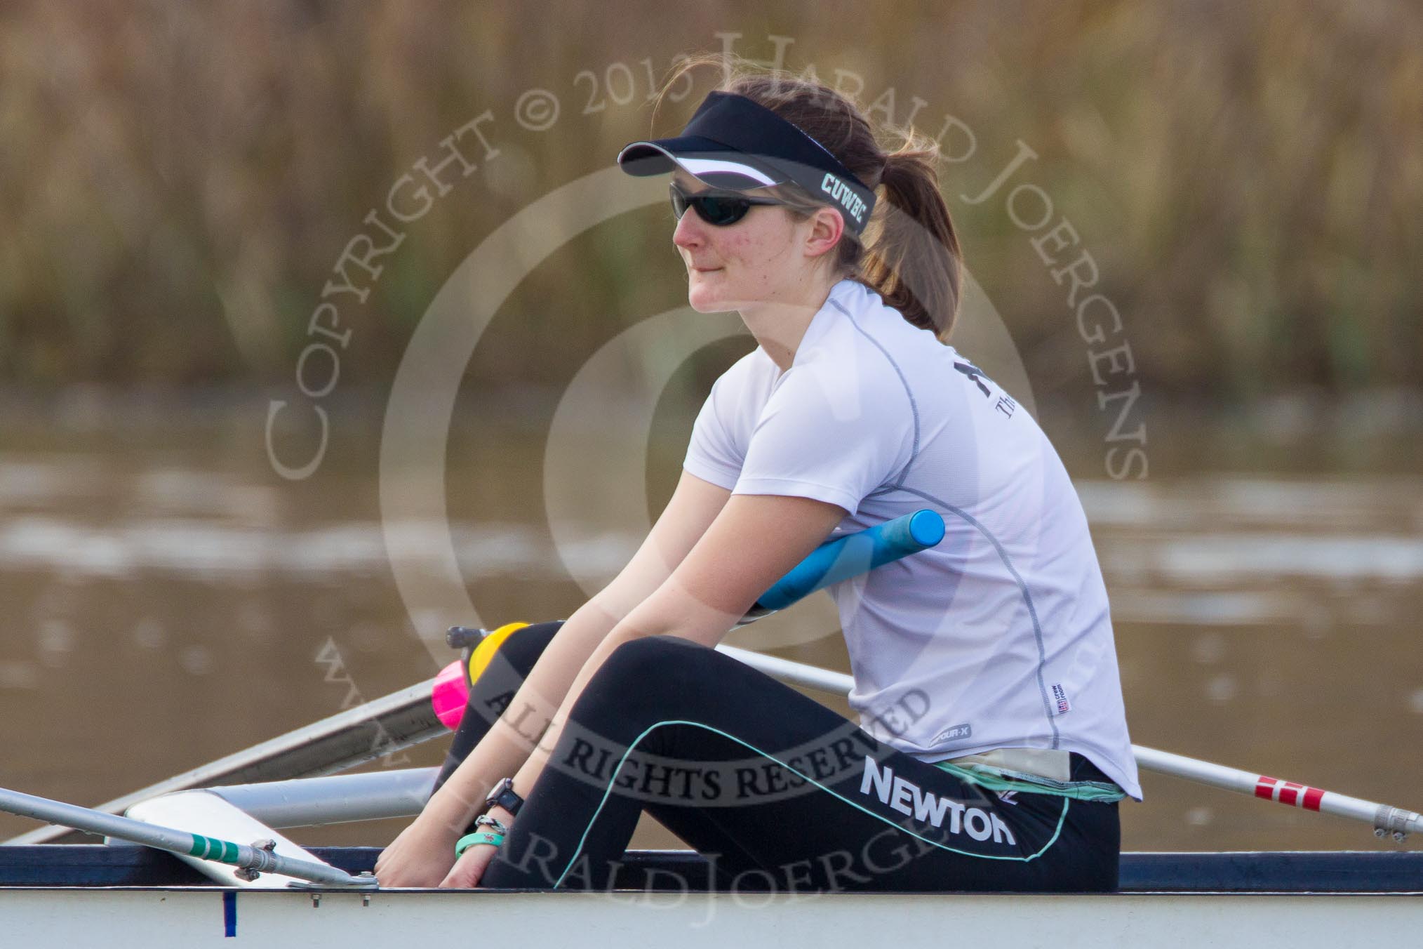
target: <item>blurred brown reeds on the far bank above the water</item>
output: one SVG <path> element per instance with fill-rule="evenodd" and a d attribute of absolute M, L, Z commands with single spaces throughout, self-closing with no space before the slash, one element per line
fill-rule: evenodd
<path fill-rule="evenodd" d="M 361 215 L 484 108 L 522 149 L 411 230 L 349 314 L 344 383 L 380 386 L 455 262 L 515 209 L 649 131 L 640 100 L 578 115 L 573 75 L 720 48 L 867 81 L 952 114 L 976 193 L 1013 157 L 1083 235 L 1143 388 L 1220 403 L 1423 384 L 1423 13 L 1412 3 L 24 3 L 0 6 L 0 378 L 23 386 L 290 378 Z M 703 77 L 706 78 L 706 77 Z M 508 120 L 561 94 L 544 135 Z M 690 107 L 700 95 L 686 102 Z M 687 111 L 660 117 L 672 134 Z M 946 151 L 962 147 L 946 137 Z M 518 165 L 509 171 L 508 166 Z M 475 193 L 477 192 L 477 193 Z M 952 202 L 968 265 L 1035 380 L 1090 386 L 1063 293 L 1002 201 Z M 672 259 L 576 246 L 521 295 L 536 319 L 472 386 L 558 383 Z M 591 314 L 596 314 L 592 320 Z M 344 314 L 343 314 L 344 316 Z M 554 340 L 556 346 L 551 344 Z M 1040 384 L 1040 383 L 1039 383 Z"/>

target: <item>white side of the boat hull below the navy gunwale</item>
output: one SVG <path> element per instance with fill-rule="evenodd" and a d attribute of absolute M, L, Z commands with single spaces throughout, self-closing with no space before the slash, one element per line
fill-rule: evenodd
<path fill-rule="evenodd" d="M 0 889 L 6 942 L 112 949 L 478 945 L 724 949 L 952 945 L 972 925 L 996 945 L 1417 945 L 1423 899 L 1345 894 L 675 894 L 213 888 Z"/>

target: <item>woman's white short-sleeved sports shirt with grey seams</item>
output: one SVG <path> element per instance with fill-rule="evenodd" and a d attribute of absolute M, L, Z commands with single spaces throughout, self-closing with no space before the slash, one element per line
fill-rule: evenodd
<path fill-rule="evenodd" d="M 1140 798 L 1087 518 L 1032 415 L 872 289 L 837 283 L 784 373 L 739 360 L 684 468 L 734 494 L 835 504 L 837 532 L 931 508 L 943 541 L 830 588 L 877 740 L 924 761 L 1087 756 Z"/>

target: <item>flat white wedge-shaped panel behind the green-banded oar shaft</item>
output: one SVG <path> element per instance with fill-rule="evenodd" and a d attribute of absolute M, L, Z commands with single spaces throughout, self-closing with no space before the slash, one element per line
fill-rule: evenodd
<path fill-rule="evenodd" d="M 276 851 L 273 852 L 280 857 L 290 857 L 292 859 L 302 859 L 330 866 L 326 861 L 314 857 L 310 851 L 303 849 L 297 844 L 293 844 L 277 831 L 272 829 L 236 805 L 222 800 L 212 791 L 176 791 L 174 794 L 164 794 L 148 801 L 139 801 L 128 808 L 125 815 L 144 821 L 145 824 L 157 824 L 159 827 L 201 828 L 201 832 L 205 837 L 215 837 L 218 839 L 232 841 L 233 844 L 252 845 L 255 841 L 270 839 L 276 841 Z M 262 874 L 256 879 L 248 881 L 238 876 L 236 866 L 202 859 L 201 857 L 188 857 L 185 854 L 174 854 L 174 857 L 196 868 L 199 872 L 211 876 L 223 886 L 283 889 L 287 884 L 305 882 L 295 876 L 283 876 L 282 874 L 272 872 Z"/>

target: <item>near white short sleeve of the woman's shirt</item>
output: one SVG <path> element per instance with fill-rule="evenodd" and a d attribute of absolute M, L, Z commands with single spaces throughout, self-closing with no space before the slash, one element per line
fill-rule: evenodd
<path fill-rule="evenodd" d="M 734 494 L 814 498 L 855 514 L 914 457 L 914 404 L 898 377 L 791 369 L 751 433 Z"/>

